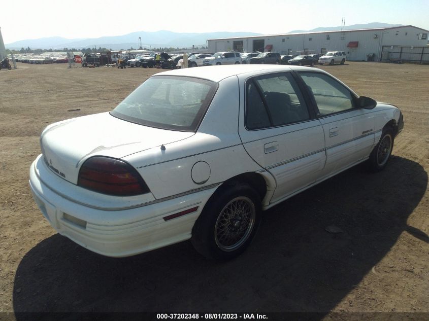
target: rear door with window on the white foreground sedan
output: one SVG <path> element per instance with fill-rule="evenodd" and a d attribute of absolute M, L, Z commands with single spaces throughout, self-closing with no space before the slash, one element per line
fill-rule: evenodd
<path fill-rule="evenodd" d="M 314 183 L 325 163 L 323 128 L 292 72 L 240 79 L 240 96 L 243 146 L 277 184 L 270 203 Z"/>

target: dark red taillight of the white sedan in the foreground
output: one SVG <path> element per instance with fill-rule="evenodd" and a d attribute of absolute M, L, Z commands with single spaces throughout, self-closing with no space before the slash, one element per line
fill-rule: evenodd
<path fill-rule="evenodd" d="M 137 170 L 119 159 L 95 156 L 83 163 L 78 185 L 88 190 L 116 196 L 149 192 Z"/>

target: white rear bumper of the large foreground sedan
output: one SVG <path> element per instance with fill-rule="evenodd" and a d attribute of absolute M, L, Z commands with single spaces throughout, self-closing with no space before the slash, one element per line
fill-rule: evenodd
<path fill-rule="evenodd" d="M 45 218 L 59 234 L 109 257 L 132 256 L 189 239 L 195 220 L 216 189 L 129 208 L 123 207 L 124 198 L 118 209 L 95 208 L 64 197 L 42 181 L 37 170 L 40 161 L 39 157 L 30 167 L 29 185 Z"/>

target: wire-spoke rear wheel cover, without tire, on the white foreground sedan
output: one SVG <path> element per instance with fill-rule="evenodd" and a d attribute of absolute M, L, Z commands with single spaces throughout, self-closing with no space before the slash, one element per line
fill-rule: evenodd
<path fill-rule="evenodd" d="M 217 246 L 225 252 L 235 251 L 249 238 L 255 225 L 256 209 L 248 197 L 236 197 L 221 210 L 215 225 Z"/>

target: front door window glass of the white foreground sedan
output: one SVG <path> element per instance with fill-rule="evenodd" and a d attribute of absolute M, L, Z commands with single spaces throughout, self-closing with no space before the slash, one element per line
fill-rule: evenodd
<path fill-rule="evenodd" d="M 321 116 L 354 108 L 351 92 L 337 80 L 322 73 L 300 73 L 314 99 Z"/>

